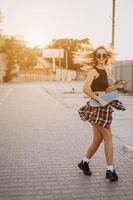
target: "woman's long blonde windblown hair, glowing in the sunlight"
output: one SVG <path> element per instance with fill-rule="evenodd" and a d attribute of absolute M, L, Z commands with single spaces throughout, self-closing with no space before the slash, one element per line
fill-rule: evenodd
<path fill-rule="evenodd" d="M 93 48 L 91 45 L 81 44 L 80 49 L 73 53 L 73 62 L 79 64 L 82 70 L 88 71 L 97 65 L 97 51 L 99 49 L 104 49 L 107 53 L 106 67 L 110 67 L 115 60 L 116 53 L 113 48 L 109 46 L 105 48 L 104 46 L 99 46 L 98 48 Z"/>

